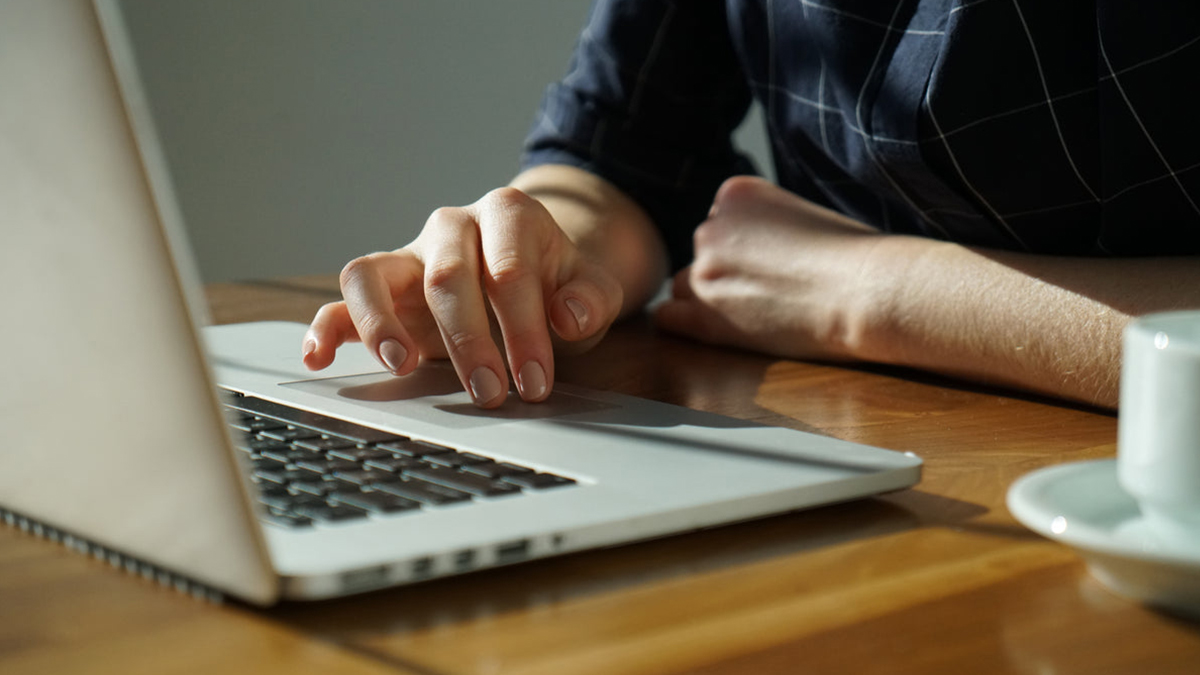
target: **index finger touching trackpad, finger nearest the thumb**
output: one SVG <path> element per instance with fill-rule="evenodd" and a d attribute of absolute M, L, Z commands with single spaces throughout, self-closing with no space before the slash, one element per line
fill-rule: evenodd
<path fill-rule="evenodd" d="M 554 270 L 544 267 L 542 241 L 556 226 L 540 203 L 514 190 L 491 192 L 472 210 L 479 219 L 484 288 L 517 392 L 527 401 L 545 400 L 554 357 L 542 293 L 544 277 Z"/>

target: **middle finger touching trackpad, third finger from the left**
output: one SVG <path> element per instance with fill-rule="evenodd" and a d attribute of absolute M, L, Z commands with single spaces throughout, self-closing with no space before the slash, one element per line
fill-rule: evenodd
<path fill-rule="evenodd" d="M 446 354 L 475 405 L 497 407 L 509 387 L 480 288 L 479 226 L 467 209 L 438 209 L 424 234 L 425 301 Z"/>

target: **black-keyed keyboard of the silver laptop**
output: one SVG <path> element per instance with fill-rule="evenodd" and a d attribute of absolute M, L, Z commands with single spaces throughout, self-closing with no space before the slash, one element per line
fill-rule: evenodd
<path fill-rule="evenodd" d="M 262 518 L 307 527 L 424 507 L 511 498 L 575 480 L 226 392 L 238 449 L 250 456 Z"/>

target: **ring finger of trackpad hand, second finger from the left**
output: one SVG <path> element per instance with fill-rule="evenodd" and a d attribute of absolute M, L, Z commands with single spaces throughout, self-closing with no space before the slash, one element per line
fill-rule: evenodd
<path fill-rule="evenodd" d="M 419 357 L 396 316 L 395 298 L 420 280 L 420 261 L 407 250 L 364 256 L 342 270 L 342 297 L 354 329 L 367 351 L 396 375 L 410 372 Z"/>

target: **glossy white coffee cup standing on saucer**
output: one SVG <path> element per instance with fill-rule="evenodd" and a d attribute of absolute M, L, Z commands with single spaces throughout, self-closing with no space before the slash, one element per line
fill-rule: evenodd
<path fill-rule="evenodd" d="M 1124 331 L 1117 479 L 1165 544 L 1200 546 L 1200 311 Z"/>

